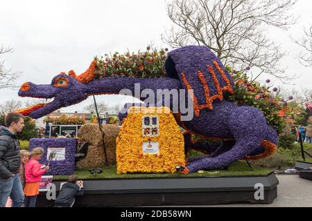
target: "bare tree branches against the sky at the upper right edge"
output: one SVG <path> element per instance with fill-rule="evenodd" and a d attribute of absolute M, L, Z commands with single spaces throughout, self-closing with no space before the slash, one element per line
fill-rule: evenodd
<path fill-rule="evenodd" d="M 302 46 L 306 50 L 306 53 L 302 53 L 299 56 L 299 61 L 302 65 L 306 67 L 312 66 L 312 25 L 310 28 L 304 28 L 304 36 L 299 39 L 295 40 L 295 43 L 299 46 Z"/>

